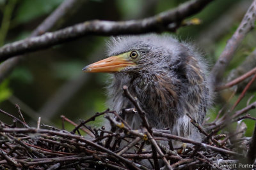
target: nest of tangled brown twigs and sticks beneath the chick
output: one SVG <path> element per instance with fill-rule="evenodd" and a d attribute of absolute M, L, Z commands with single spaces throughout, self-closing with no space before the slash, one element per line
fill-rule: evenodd
<path fill-rule="evenodd" d="M 202 133 L 202 142 L 170 134 L 168 129 L 154 129 L 148 125 L 145 113 L 136 97 L 131 96 L 124 87 L 124 95 L 136 108 L 125 109 L 123 114 L 139 114 L 141 129 L 131 129 L 116 114 L 106 110 L 96 113 L 88 120 L 76 125 L 61 116 L 63 129 L 41 124 L 37 127 L 26 124 L 18 107 L 20 118 L 0 110 L 13 119 L 13 124 L 4 122 L 0 127 L 0 168 L 1 169 L 238 169 L 255 168 L 255 132 L 252 138 L 244 136 L 246 125 L 244 118 L 256 120 L 246 111 L 254 108 L 254 103 L 242 110 L 230 113 L 218 113 L 216 120 L 204 123 L 204 128 L 193 117 L 191 124 Z M 100 115 L 111 123 L 111 131 L 88 126 Z M 113 118 L 111 115 L 115 115 Z M 64 123 L 76 127 L 66 131 Z M 228 131 L 230 124 L 237 122 L 235 131 Z M 20 128 L 22 126 L 22 128 Z M 211 129 L 205 131 L 204 129 Z M 88 133 L 84 138 L 81 131 Z M 169 144 L 161 145 L 161 141 Z M 179 148 L 173 148 L 172 142 L 180 141 Z M 125 143 L 125 145 L 120 145 Z M 254 143 L 254 144 L 253 144 Z M 150 148 L 145 150 L 145 146 Z M 144 164 L 147 161 L 149 164 Z"/>

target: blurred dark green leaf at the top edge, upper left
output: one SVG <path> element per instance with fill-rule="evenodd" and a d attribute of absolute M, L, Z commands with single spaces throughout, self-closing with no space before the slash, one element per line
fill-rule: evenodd
<path fill-rule="evenodd" d="M 23 0 L 14 19 L 17 23 L 29 22 L 42 15 L 51 13 L 64 0 Z"/>

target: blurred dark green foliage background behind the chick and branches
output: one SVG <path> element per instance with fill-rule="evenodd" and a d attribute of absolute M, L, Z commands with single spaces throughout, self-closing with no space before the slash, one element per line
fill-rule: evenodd
<path fill-rule="evenodd" d="M 0 46 L 28 37 L 62 2 L 63 0 L 0 0 Z M 74 10 L 72 17 L 63 18 L 58 29 L 93 19 L 131 20 L 150 17 L 184 2 L 186 1 L 88 0 Z M 209 61 L 211 68 L 236 31 L 251 2 L 213 1 L 198 15 L 191 17 L 202 20 L 200 25 L 182 27 L 172 34 L 182 41 L 195 43 L 205 53 L 205 59 Z M 230 71 L 236 69 L 254 50 L 255 35 L 256 31 L 252 31 L 246 36 L 224 76 L 228 77 Z M 40 116 L 42 122 L 58 127 L 61 126 L 60 115 L 79 122 L 79 119 L 86 119 L 97 111 L 104 111 L 107 108 L 104 87 L 108 74 L 86 74 L 81 69 L 105 57 L 104 44 L 107 39 L 108 37 L 86 36 L 27 54 L 0 84 L 0 108 L 17 116 L 15 104 L 19 104 L 28 124 L 35 125 Z M 253 64 L 256 66 L 256 63 Z M 241 90 L 243 89 L 237 92 L 231 104 L 236 101 Z M 250 89 L 236 110 L 244 108 L 247 99 L 253 94 L 255 87 Z M 217 95 L 208 115 L 211 120 L 229 95 L 230 92 L 221 97 Z M 250 113 L 256 116 L 254 110 Z M 4 115 L 0 115 L 0 120 L 12 122 Z M 248 125 L 246 134 L 250 135 L 254 122 L 245 122 Z M 97 123 L 100 125 L 100 121 Z"/>

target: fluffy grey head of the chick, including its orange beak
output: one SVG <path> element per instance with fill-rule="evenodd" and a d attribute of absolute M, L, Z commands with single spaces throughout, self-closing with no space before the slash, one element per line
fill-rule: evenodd
<path fill-rule="evenodd" d="M 108 42 L 108 58 L 84 67 L 83 71 L 126 74 L 164 72 L 180 64 L 180 52 L 180 43 L 170 36 L 119 36 Z"/>

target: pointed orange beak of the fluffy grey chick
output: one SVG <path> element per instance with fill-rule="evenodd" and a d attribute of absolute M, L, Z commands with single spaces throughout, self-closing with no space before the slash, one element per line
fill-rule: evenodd
<path fill-rule="evenodd" d="M 84 67 L 82 70 L 87 73 L 113 73 L 121 71 L 128 66 L 135 66 L 135 63 L 124 53 L 94 62 Z"/>

